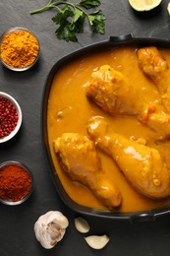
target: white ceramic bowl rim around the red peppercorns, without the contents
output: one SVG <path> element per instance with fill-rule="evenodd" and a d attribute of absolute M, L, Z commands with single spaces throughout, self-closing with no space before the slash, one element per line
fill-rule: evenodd
<path fill-rule="evenodd" d="M 7 141 L 11 140 L 18 133 L 18 131 L 20 130 L 21 125 L 22 125 L 22 121 L 23 121 L 23 114 L 22 114 L 22 109 L 21 109 L 19 103 L 17 102 L 17 100 L 13 96 L 10 96 L 10 95 L 8 95 L 6 93 L 3 93 L 3 92 L 0 92 L 0 96 L 10 100 L 10 102 L 14 105 L 14 107 L 16 108 L 16 111 L 18 113 L 18 122 L 17 122 L 17 125 L 16 125 L 15 129 L 9 135 L 7 135 L 6 137 L 4 137 L 2 139 L 0 138 L 0 143 L 4 143 L 4 142 L 7 142 Z M 0 120 L 0 128 L 1 128 L 1 120 Z"/>

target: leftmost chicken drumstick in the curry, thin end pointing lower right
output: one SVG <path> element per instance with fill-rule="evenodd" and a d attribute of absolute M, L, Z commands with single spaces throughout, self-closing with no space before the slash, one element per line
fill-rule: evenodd
<path fill-rule="evenodd" d="M 54 141 L 54 151 L 72 180 L 85 185 L 108 209 L 118 207 L 122 195 L 103 171 L 95 146 L 78 133 L 64 133 Z"/>

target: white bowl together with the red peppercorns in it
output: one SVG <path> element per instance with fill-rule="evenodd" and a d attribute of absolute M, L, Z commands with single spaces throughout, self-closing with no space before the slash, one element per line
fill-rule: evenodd
<path fill-rule="evenodd" d="M 22 120 L 22 109 L 17 100 L 0 92 L 0 143 L 11 140 L 18 133 Z"/>

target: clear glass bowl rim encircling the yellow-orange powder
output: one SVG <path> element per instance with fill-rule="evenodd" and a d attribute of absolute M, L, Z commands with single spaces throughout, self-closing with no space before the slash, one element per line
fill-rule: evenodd
<path fill-rule="evenodd" d="M 7 34 L 10 33 L 10 32 L 20 32 L 20 31 L 29 32 L 30 34 L 32 34 L 32 35 L 36 38 L 37 44 L 38 44 L 38 53 L 37 53 L 36 58 L 34 59 L 34 61 L 33 61 L 30 65 L 25 66 L 25 67 L 21 67 L 21 68 L 18 68 L 18 67 L 16 68 L 16 67 L 13 67 L 13 66 L 8 65 L 8 64 L 2 59 L 2 57 L 1 57 L 1 44 L 2 44 L 2 41 L 3 41 L 3 38 L 4 38 L 5 35 L 7 35 Z M 29 68 L 31 68 L 31 67 L 36 63 L 36 61 L 37 61 L 37 59 L 38 59 L 38 57 L 39 57 L 39 51 L 40 51 L 40 44 L 39 44 L 38 38 L 36 37 L 36 35 L 35 35 L 33 32 L 28 31 L 28 29 L 26 29 L 26 28 L 23 28 L 23 27 L 14 27 L 14 28 L 9 29 L 9 30 L 6 31 L 6 32 L 3 32 L 3 34 L 0 36 L 0 59 L 1 59 L 2 64 L 3 64 L 6 68 L 8 68 L 8 69 L 10 69 L 10 70 L 19 71 L 19 72 L 28 70 Z"/>

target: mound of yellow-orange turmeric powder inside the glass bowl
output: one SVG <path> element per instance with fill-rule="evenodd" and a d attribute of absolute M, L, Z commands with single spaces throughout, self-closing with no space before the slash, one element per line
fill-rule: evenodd
<path fill-rule="evenodd" d="M 31 65 L 39 51 L 36 37 L 28 31 L 9 32 L 1 43 L 1 59 L 13 68 L 25 68 Z"/>

